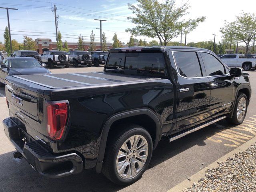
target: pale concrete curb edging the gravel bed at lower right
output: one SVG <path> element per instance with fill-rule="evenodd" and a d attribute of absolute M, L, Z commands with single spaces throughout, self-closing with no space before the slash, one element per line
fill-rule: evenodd
<path fill-rule="evenodd" d="M 256 142 L 256 136 L 253 137 L 252 139 L 248 140 L 244 144 L 240 145 L 239 147 L 235 148 L 234 150 L 232 150 L 228 154 L 222 156 L 221 158 L 219 158 L 218 160 L 216 160 L 212 164 L 208 165 L 206 168 L 203 168 L 202 170 L 200 170 L 199 172 L 197 172 L 193 176 L 189 177 L 191 180 L 186 179 L 183 182 L 181 182 L 178 185 L 171 188 L 170 190 L 168 190 L 167 192 L 179 192 L 179 191 L 182 192 L 183 189 L 192 186 L 194 182 L 197 183 L 198 180 L 200 180 L 200 178 L 203 178 L 207 169 L 212 169 L 212 168 L 218 167 L 219 164 L 217 162 L 224 162 L 228 159 L 228 157 L 230 157 L 230 158 L 234 157 L 234 153 L 238 153 L 238 152 L 246 150 L 247 148 L 249 148 L 255 142 Z"/>

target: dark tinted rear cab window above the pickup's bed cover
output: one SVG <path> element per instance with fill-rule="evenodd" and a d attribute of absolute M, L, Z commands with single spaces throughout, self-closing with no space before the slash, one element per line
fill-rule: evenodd
<path fill-rule="evenodd" d="M 105 71 L 165 76 L 162 53 L 110 53 Z"/>

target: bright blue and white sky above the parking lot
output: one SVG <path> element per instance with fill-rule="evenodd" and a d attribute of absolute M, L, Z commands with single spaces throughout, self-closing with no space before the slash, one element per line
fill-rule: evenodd
<path fill-rule="evenodd" d="M 160 0 L 161 1 L 161 0 Z M 184 1 L 183 1 L 184 2 Z M 184 20 L 206 16 L 206 20 L 198 25 L 194 31 L 187 34 L 187 43 L 213 40 L 212 34 L 217 34 L 216 42 L 221 40 L 220 28 L 224 20 L 232 22 L 242 10 L 244 12 L 256 12 L 256 0 L 188 0 L 190 4 L 189 14 Z M 12 39 L 23 41 L 23 35 L 31 38 L 55 38 L 53 3 L 57 7 L 59 16 L 58 28 L 62 33 L 62 41 L 77 42 L 78 35 L 84 37 L 84 41 L 90 40 L 93 30 L 95 41 L 100 41 L 100 22 L 94 19 L 107 20 L 102 22 L 102 33 L 105 32 L 107 42 L 113 42 L 116 32 L 121 42 L 129 42 L 130 35 L 125 29 L 135 25 L 127 20 L 128 16 L 134 16 L 128 9 L 127 3 L 136 5 L 136 0 L 0 0 L 0 6 L 18 8 L 9 10 L 10 28 Z M 182 3 L 176 0 L 177 6 Z M 4 42 L 4 28 L 8 26 L 6 10 L 0 9 L 0 41 Z M 143 36 L 137 39 L 158 40 Z M 180 36 L 171 41 L 180 42 Z M 185 41 L 183 36 L 182 42 Z"/>

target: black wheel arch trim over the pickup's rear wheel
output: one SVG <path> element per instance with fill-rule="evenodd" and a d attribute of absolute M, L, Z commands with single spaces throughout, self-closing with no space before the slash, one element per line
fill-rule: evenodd
<path fill-rule="evenodd" d="M 102 169 L 102 163 L 104 160 L 104 154 L 106 150 L 106 144 L 109 137 L 110 128 L 112 128 L 112 125 L 115 124 L 115 122 L 118 122 L 120 120 L 124 120 L 126 118 L 132 118 L 132 117 L 138 117 L 138 116 L 148 116 L 156 125 L 155 127 L 155 138 L 153 140 L 153 149 L 156 148 L 158 141 L 160 140 L 161 136 L 161 125 L 160 120 L 156 116 L 156 114 L 150 110 L 149 108 L 140 108 L 135 110 L 128 110 L 124 112 L 120 112 L 118 114 L 114 114 L 108 120 L 103 126 L 102 133 L 101 133 L 101 140 L 100 140 L 100 148 L 98 153 L 98 160 L 96 164 L 96 172 L 100 173 Z M 151 135 L 151 134 L 150 134 Z"/>

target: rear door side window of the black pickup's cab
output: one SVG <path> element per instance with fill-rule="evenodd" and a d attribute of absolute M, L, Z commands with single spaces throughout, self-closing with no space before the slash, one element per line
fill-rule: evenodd
<path fill-rule="evenodd" d="M 178 72 L 183 77 L 202 77 L 202 68 L 200 66 L 196 52 L 174 52 Z"/>

